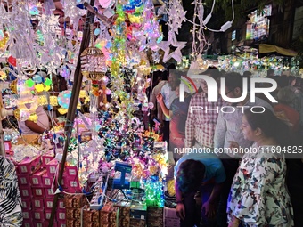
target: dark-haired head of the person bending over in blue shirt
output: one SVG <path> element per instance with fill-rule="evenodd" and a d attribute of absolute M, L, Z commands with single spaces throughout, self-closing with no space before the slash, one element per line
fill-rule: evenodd
<path fill-rule="evenodd" d="M 205 166 L 193 159 L 185 160 L 180 164 L 176 173 L 176 183 L 183 193 L 199 191 L 204 179 Z"/>

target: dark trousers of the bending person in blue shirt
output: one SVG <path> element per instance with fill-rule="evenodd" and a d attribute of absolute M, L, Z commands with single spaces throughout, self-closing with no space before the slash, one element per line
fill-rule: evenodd
<path fill-rule="evenodd" d="M 201 186 L 201 205 L 205 203 L 214 188 L 214 184 L 209 183 Z M 185 218 L 180 220 L 180 227 L 216 227 L 216 217 L 209 218 L 204 212 L 201 212 L 201 205 L 196 203 L 194 199 L 195 192 L 184 195 Z"/>

